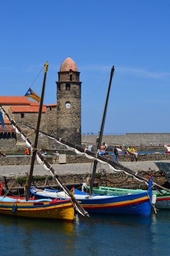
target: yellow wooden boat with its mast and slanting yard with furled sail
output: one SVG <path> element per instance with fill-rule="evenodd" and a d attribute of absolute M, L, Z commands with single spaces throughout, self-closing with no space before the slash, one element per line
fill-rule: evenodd
<path fill-rule="evenodd" d="M 55 218 L 55 219 L 63 219 L 67 221 L 73 221 L 74 220 L 74 209 L 76 208 L 78 212 L 80 212 L 82 215 L 88 216 L 88 212 L 86 212 L 75 200 L 74 197 L 67 200 L 30 200 L 30 189 L 31 189 L 31 181 L 32 181 L 32 175 L 34 170 L 34 161 L 35 157 L 39 157 L 39 160 L 41 163 L 45 165 L 45 168 L 48 168 L 51 173 L 55 174 L 54 169 L 52 166 L 45 160 L 42 156 L 42 154 L 37 151 L 37 143 L 38 143 L 38 135 L 40 130 L 40 121 L 41 121 L 41 113 L 42 113 L 42 105 L 43 105 L 43 99 L 44 99 L 44 91 L 45 91 L 45 81 L 46 81 L 46 75 L 48 70 L 48 62 L 45 63 L 45 74 L 44 74 L 44 80 L 42 85 L 42 93 L 40 98 L 40 108 L 39 108 L 39 114 L 38 114 L 38 120 L 37 120 L 37 128 L 36 128 L 36 135 L 34 140 L 34 145 L 29 140 L 29 138 L 26 136 L 26 134 L 23 133 L 21 128 L 16 124 L 16 122 L 11 118 L 11 116 L 6 113 L 6 111 L 0 107 L 0 111 L 6 115 L 6 117 L 11 121 L 13 127 L 15 128 L 16 132 L 21 135 L 22 139 L 26 141 L 26 145 L 33 149 L 32 150 L 32 156 L 31 156 L 31 167 L 30 167 L 30 173 L 29 173 L 29 179 L 28 179 L 28 186 L 27 186 L 27 192 L 26 192 L 26 200 L 25 198 L 16 198 L 16 197 L 5 197 L 0 196 L 0 213 L 7 214 L 7 215 L 16 215 L 16 216 L 22 216 L 22 217 L 33 217 L 33 218 Z M 62 186 L 62 181 L 59 179 L 58 175 L 55 175 L 56 180 L 59 182 L 60 186 Z M 68 192 L 68 189 L 65 185 L 63 185 L 63 189 L 65 189 L 65 192 Z M 2 188 L 0 189 L 0 195 L 2 192 Z"/>

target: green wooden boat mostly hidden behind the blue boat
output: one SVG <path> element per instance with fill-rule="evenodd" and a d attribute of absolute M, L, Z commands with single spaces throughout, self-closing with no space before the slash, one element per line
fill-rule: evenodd
<path fill-rule="evenodd" d="M 86 193 L 89 192 L 90 187 L 83 185 L 83 189 Z M 134 193 L 144 192 L 142 189 L 120 189 L 120 188 L 111 188 L 105 186 L 99 186 L 93 188 L 93 193 L 100 195 L 129 195 Z M 157 209 L 170 209 L 170 193 L 161 190 L 161 194 L 156 190 L 152 191 L 152 195 L 156 195 L 156 204 L 155 207 Z"/>

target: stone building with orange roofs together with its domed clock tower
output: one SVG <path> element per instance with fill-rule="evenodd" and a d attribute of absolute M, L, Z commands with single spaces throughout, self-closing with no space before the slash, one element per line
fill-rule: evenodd
<path fill-rule="evenodd" d="M 76 63 L 70 58 L 62 62 L 58 72 L 57 103 L 43 105 L 40 130 L 54 136 L 81 144 L 81 83 Z M 24 124 L 36 127 L 39 112 L 39 103 L 28 100 L 23 96 L 0 96 L 0 106 L 15 120 L 25 134 L 34 141 L 34 131 L 26 128 Z M 0 125 L 0 147 L 10 150 L 23 150 L 25 142 L 15 134 L 12 125 L 4 117 L 7 132 Z M 12 139 L 10 141 L 6 139 Z M 45 137 L 40 137 L 39 148 L 55 149 L 58 145 Z M 59 148 L 59 146 L 58 146 Z"/>

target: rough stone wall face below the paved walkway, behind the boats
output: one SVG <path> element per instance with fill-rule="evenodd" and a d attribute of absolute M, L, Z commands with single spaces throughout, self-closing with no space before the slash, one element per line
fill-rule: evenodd
<path fill-rule="evenodd" d="M 143 177 L 145 178 L 149 178 L 151 174 L 153 174 L 153 178 L 154 178 L 154 182 L 162 185 L 164 184 L 167 180 L 164 177 L 164 175 L 161 175 L 159 171 L 155 171 L 155 170 L 148 170 L 148 171 L 138 171 L 139 174 L 141 174 Z M 100 175 L 97 174 L 96 175 L 96 179 L 94 180 L 94 182 L 99 183 L 99 186 L 111 186 L 111 187 L 117 187 L 117 188 L 125 188 L 125 189 L 148 189 L 146 183 L 144 182 L 139 182 L 138 180 L 134 179 L 131 176 L 127 176 L 124 173 L 119 173 L 115 174 L 115 173 L 109 173 L 107 172 L 106 175 L 102 175 L 102 179 L 100 178 Z M 59 175 L 60 179 L 62 180 L 62 182 L 64 184 L 74 184 L 74 183 L 83 183 L 84 181 L 86 181 L 86 179 L 88 178 L 88 174 L 68 174 L 68 175 Z M 13 183 L 14 179 L 16 177 L 5 177 L 6 180 L 6 189 L 8 189 L 11 184 Z M 46 178 L 48 178 L 48 176 L 46 176 Z M 4 177 L 1 177 L 1 181 L 4 179 Z M 37 179 L 38 180 L 38 179 Z M 101 183 L 102 180 L 102 183 Z M 19 182 L 15 182 L 13 185 L 13 190 L 17 190 L 16 187 L 23 187 L 25 186 L 26 183 L 22 183 L 22 185 L 20 185 Z M 50 180 L 48 179 L 48 183 L 47 180 L 39 180 L 36 181 L 36 177 L 34 177 L 34 183 L 32 183 L 32 186 L 56 186 L 57 183 L 55 180 Z"/>

